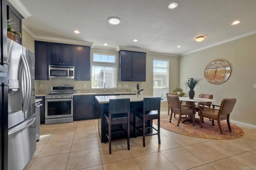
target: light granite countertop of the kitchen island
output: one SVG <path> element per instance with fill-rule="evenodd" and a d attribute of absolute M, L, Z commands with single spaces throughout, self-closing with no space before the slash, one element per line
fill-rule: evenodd
<path fill-rule="evenodd" d="M 99 104 L 109 103 L 110 99 L 124 99 L 130 98 L 130 102 L 142 102 L 143 98 L 151 98 L 152 96 L 146 95 L 122 95 L 122 96 L 96 96 Z"/>

